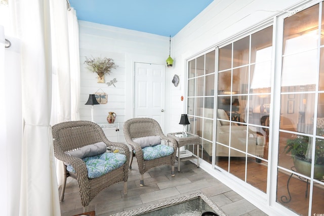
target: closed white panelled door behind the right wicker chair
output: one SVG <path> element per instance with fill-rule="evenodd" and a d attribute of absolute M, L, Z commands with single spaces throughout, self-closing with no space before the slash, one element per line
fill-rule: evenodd
<path fill-rule="evenodd" d="M 134 117 L 155 119 L 164 129 L 165 65 L 135 63 Z"/>

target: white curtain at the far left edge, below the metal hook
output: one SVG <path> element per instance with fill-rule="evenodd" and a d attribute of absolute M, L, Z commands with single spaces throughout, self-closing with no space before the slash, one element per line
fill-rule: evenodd
<path fill-rule="evenodd" d="M 0 106 L 0 148 L 3 153 L 0 194 L 2 214 L 18 215 L 22 142 L 20 40 L 6 38 L 11 42 L 8 48 L 5 48 L 4 27 L 0 26 L 0 91 L 8 98 Z"/>

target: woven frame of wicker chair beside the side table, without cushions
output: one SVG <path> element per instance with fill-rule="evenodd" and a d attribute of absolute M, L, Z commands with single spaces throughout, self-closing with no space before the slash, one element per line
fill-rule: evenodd
<path fill-rule="evenodd" d="M 174 175 L 174 163 L 177 153 L 177 143 L 171 138 L 165 136 L 157 121 L 151 118 L 132 118 L 124 123 L 124 135 L 126 142 L 135 150 L 135 156 L 138 163 L 138 168 L 141 174 L 140 186 L 144 186 L 144 172 L 148 169 L 159 165 L 171 165 L 171 176 Z M 174 148 L 174 153 L 157 158 L 154 160 L 144 160 L 141 146 L 133 141 L 135 138 L 159 136 L 161 140 L 165 141 L 166 145 Z M 133 155 L 133 154 L 132 154 Z M 130 169 L 132 169 L 133 157 L 130 163 Z"/>

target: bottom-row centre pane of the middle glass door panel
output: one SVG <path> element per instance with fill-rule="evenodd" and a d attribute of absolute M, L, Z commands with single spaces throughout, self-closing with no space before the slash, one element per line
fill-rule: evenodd
<path fill-rule="evenodd" d="M 237 178 L 245 181 L 245 154 L 235 151 L 233 149 L 231 149 L 230 154 L 237 156 L 230 157 L 229 172 Z"/>

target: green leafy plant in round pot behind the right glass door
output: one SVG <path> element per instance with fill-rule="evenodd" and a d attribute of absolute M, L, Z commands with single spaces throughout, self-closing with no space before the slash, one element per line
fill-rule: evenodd
<path fill-rule="evenodd" d="M 311 157 L 308 157 L 308 152 L 311 154 L 311 143 L 309 143 L 308 136 L 297 135 L 295 139 L 287 141 L 285 147 L 286 153 L 291 153 L 294 160 L 294 165 L 300 174 L 310 177 L 311 171 Z M 323 179 L 324 176 L 324 140 L 316 139 L 315 149 L 315 166 L 314 166 L 314 178 Z"/>

